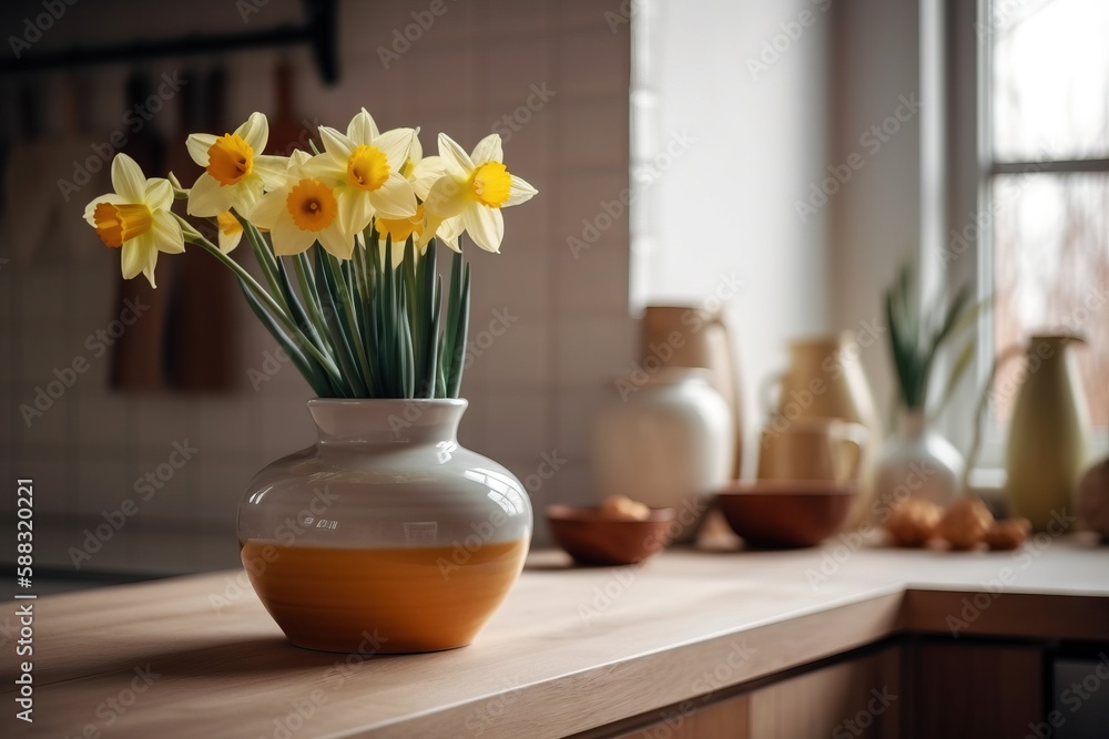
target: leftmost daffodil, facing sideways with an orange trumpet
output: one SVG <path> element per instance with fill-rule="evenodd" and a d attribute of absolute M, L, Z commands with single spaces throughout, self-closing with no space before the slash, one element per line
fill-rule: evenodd
<path fill-rule="evenodd" d="M 100 240 L 121 250 L 123 277 L 139 273 L 154 284 L 157 253 L 181 254 L 185 250 L 181 224 L 170 213 L 173 186 L 169 179 L 146 179 L 142 170 L 126 154 L 112 162 L 112 187 L 84 209 L 84 219 L 96 229 Z"/>

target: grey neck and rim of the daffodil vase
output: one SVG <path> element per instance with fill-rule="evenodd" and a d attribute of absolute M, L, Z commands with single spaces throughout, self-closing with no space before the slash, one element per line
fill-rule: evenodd
<path fill-rule="evenodd" d="M 308 401 L 321 447 L 458 443 L 467 402 L 457 399 Z"/>

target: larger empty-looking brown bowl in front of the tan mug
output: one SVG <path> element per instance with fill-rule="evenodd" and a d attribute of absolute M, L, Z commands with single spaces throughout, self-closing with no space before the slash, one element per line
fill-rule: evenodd
<path fill-rule="evenodd" d="M 815 546 L 840 531 L 855 500 L 854 483 L 759 480 L 716 494 L 729 525 L 757 548 Z"/>

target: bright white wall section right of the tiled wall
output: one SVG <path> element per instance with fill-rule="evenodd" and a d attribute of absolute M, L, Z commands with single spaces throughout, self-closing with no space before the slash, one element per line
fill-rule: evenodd
<path fill-rule="evenodd" d="M 831 3 L 655 4 L 648 86 L 658 124 L 650 136 L 654 151 L 674 134 L 692 143 L 645 187 L 648 213 L 633 223 L 645 233 L 633 233 L 641 261 L 633 297 L 640 305 L 700 302 L 724 276 L 743 281 L 729 318 L 753 450 L 763 421 L 756 389 L 781 367 L 785 341 L 834 326 L 830 214 L 823 208 L 802 223 L 795 206 L 824 176 L 828 156 Z M 744 456 L 747 466 L 753 455 Z"/>

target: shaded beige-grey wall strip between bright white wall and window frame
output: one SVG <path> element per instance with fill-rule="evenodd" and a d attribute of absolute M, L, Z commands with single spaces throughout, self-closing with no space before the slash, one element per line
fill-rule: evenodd
<path fill-rule="evenodd" d="M 841 165 L 857 153 L 863 162 L 828 203 L 832 317 L 846 329 L 864 321 L 885 326 L 882 295 L 920 244 L 924 113 L 908 116 L 903 102 L 928 104 L 920 95 L 919 4 L 852 0 L 832 11 L 835 94 L 827 161 Z M 898 121 L 898 113 L 909 120 Z M 862 351 L 883 420 L 894 393 L 891 361 L 885 337 Z"/>

